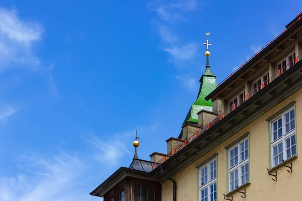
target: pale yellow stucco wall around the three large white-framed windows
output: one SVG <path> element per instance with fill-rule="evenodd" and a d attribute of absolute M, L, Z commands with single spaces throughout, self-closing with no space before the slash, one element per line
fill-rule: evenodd
<path fill-rule="evenodd" d="M 228 140 L 205 154 L 200 159 L 196 160 L 186 169 L 175 175 L 174 179 L 177 182 L 177 201 L 199 200 L 199 184 L 198 184 L 198 169 L 197 165 L 217 154 L 217 200 L 224 200 L 223 193 L 227 193 L 227 162 L 225 146 L 228 146 L 245 133 L 250 133 L 250 182 L 246 186 L 246 201 L 249 200 L 302 200 L 302 160 L 296 158 L 292 161 L 293 172 L 288 173 L 286 167 L 276 169 L 278 178 L 277 181 L 271 180 L 272 176 L 267 174 L 270 159 L 270 143 L 268 134 L 267 118 L 290 104 L 295 102 L 296 112 L 296 144 L 297 155 L 302 156 L 302 89 L 295 92 L 272 110 L 261 116 L 253 123 L 246 126 L 240 132 L 233 135 Z M 233 200 L 244 200 L 240 197 L 241 193 L 235 192 L 232 194 Z M 229 197 L 231 198 L 231 196 Z M 162 185 L 162 201 L 172 200 L 172 182 L 166 181 Z"/>

